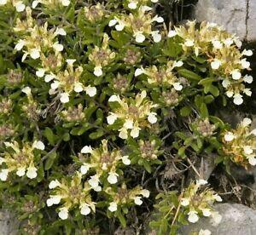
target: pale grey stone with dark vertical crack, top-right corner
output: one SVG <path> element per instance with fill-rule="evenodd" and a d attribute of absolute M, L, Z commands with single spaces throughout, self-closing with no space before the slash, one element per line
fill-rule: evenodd
<path fill-rule="evenodd" d="M 195 19 L 218 23 L 242 40 L 256 40 L 255 0 L 199 0 L 195 7 Z"/>

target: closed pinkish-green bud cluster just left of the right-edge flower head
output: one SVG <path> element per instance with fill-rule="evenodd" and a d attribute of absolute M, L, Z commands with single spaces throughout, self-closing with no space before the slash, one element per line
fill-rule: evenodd
<path fill-rule="evenodd" d="M 196 133 L 203 137 L 211 137 L 213 135 L 216 126 L 209 122 L 208 118 L 198 119 L 195 123 L 192 123 L 192 128 L 195 129 Z"/>

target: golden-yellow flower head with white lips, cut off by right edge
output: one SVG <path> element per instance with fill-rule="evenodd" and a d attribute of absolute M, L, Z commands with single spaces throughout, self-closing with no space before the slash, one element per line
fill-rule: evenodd
<path fill-rule="evenodd" d="M 256 165 L 256 129 L 250 130 L 250 118 L 244 118 L 236 129 L 224 132 L 223 152 L 231 161 L 247 168 Z"/>

